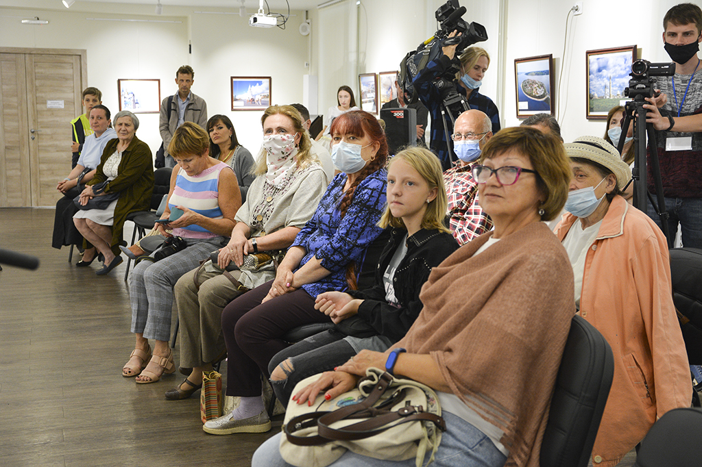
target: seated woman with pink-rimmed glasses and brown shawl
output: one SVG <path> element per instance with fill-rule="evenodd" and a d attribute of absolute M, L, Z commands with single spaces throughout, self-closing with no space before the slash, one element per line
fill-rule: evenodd
<path fill-rule="evenodd" d="M 290 403 L 314 405 L 320 393 L 334 400 L 367 368 L 385 368 L 437 391 L 447 430 L 432 465 L 538 467 L 575 313 L 568 256 L 541 221 L 562 209 L 570 169 L 563 144 L 534 128 L 500 130 L 482 154 L 472 173 L 494 231 L 432 269 L 419 295 L 424 307 L 392 350 L 361 351 Z M 277 436 L 267 440 L 251 465 L 288 465 L 279 443 Z M 418 465 L 347 451 L 331 466 L 390 464 Z"/>

